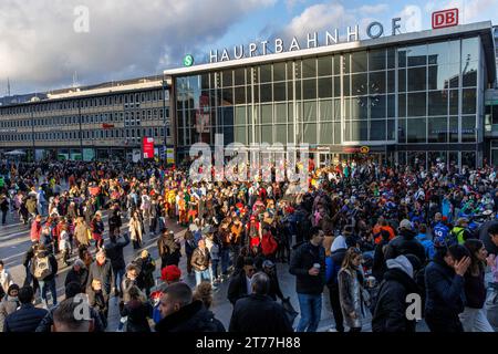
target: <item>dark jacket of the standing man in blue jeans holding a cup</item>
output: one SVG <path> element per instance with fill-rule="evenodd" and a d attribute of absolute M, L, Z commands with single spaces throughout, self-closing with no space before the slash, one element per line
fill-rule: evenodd
<path fill-rule="evenodd" d="M 308 273 L 314 263 L 320 264 L 320 274 L 312 277 Z M 311 242 L 301 244 L 294 252 L 289 272 L 295 275 L 295 289 L 301 294 L 319 295 L 325 284 L 325 250 Z"/>

